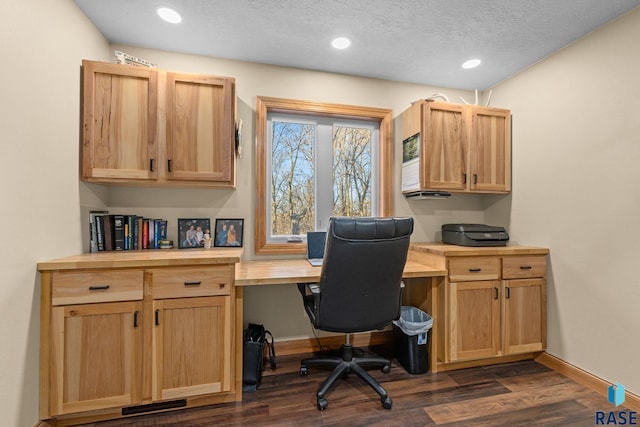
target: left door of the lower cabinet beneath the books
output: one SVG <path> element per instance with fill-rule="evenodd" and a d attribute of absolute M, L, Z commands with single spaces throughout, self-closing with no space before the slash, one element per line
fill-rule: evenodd
<path fill-rule="evenodd" d="M 52 415 L 140 403 L 142 302 L 53 307 Z"/>

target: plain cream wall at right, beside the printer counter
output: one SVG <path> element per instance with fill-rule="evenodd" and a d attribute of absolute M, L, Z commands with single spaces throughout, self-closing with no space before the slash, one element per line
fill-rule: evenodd
<path fill-rule="evenodd" d="M 548 352 L 640 394 L 640 9 L 494 88 L 513 193 L 487 221 L 551 249 Z"/>

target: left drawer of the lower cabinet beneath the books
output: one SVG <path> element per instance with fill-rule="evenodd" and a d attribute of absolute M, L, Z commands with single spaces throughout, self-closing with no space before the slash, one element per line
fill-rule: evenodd
<path fill-rule="evenodd" d="M 53 305 L 142 299 L 142 270 L 54 271 Z"/>

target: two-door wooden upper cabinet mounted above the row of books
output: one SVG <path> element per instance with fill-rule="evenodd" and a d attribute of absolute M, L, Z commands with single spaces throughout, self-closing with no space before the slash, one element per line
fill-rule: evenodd
<path fill-rule="evenodd" d="M 233 78 L 82 64 L 82 179 L 235 186 Z"/>

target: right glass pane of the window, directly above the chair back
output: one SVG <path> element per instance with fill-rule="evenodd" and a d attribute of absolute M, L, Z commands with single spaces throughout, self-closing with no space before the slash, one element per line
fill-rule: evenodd
<path fill-rule="evenodd" d="M 371 129 L 333 127 L 333 215 L 371 216 Z"/>

